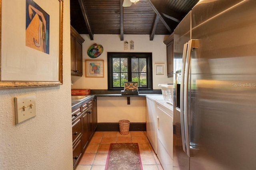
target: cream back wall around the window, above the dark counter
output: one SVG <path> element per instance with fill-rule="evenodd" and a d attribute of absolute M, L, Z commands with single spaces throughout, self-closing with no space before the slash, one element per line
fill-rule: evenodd
<path fill-rule="evenodd" d="M 71 76 L 72 88 L 90 88 L 90 89 L 108 89 L 108 52 L 152 52 L 153 63 L 153 89 L 160 89 L 160 83 L 172 83 L 172 78 L 167 78 L 166 69 L 166 45 L 163 41 L 168 35 L 155 35 L 154 40 L 149 40 L 149 35 L 124 35 L 124 41 L 134 41 L 134 51 L 124 51 L 124 41 L 120 41 L 120 35 L 94 35 L 91 41 L 89 35 L 82 35 L 85 39 L 83 43 L 83 76 Z M 88 48 L 94 44 L 103 46 L 104 51 L 95 60 L 104 60 L 104 78 L 88 78 L 85 77 L 85 60 L 92 59 L 87 55 Z M 155 75 L 154 64 L 165 64 L 165 75 Z"/>

